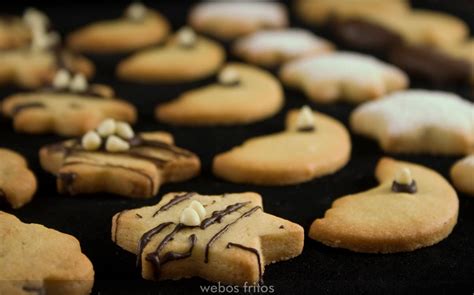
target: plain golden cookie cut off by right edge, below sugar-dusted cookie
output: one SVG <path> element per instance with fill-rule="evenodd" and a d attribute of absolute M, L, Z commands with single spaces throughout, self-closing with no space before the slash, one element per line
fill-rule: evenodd
<path fill-rule="evenodd" d="M 457 161 L 451 168 L 451 179 L 459 191 L 474 196 L 474 154 Z"/>

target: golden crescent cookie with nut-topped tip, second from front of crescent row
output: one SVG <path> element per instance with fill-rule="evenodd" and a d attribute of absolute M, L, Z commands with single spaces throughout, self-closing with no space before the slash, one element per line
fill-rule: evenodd
<path fill-rule="evenodd" d="M 335 173 L 350 152 L 344 125 L 303 107 L 288 113 L 285 131 L 251 138 L 217 155 L 212 169 L 231 182 L 289 185 Z"/>

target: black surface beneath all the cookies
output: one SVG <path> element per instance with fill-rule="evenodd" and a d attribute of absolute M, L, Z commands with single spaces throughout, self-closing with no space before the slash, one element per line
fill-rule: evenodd
<path fill-rule="evenodd" d="M 125 3 L 118 2 L 79 4 L 57 1 L 36 4 L 51 16 L 55 27 L 62 33 L 92 20 L 114 17 L 120 14 L 125 6 Z M 459 15 L 470 22 L 472 28 L 473 1 L 415 1 L 415 4 Z M 155 1 L 155 4 L 151 5 L 158 7 L 167 15 L 175 29 L 184 24 L 189 8 L 188 2 L 177 1 Z M 15 2 L 14 7 L 7 7 L 6 4 L 0 6 L 3 6 L 5 11 L 12 12 L 20 12 L 24 8 L 23 2 L 20 4 Z M 292 17 L 292 25 L 300 26 L 294 16 Z M 176 97 L 184 90 L 203 85 L 206 81 L 148 86 L 117 81 L 113 72 L 115 63 L 120 58 L 120 56 L 93 57 L 98 69 L 94 81 L 112 85 L 119 96 L 137 106 L 140 117 L 135 126 L 136 130 L 170 131 L 179 146 L 196 152 L 203 163 L 199 177 L 185 183 L 166 184 L 162 186 L 157 197 L 149 200 L 130 200 L 105 194 L 60 196 L 56 192 L 54 177 L 39 166 L 37 152 L 42 145 L 59 141 L 61 138 L 54 135 L 17 134 L 13 132 L 10 121 L 3 118 L 0 121 L 0 146 L 23 153 L 39 180 L 38 192 L 30 204 L 20 210 L 6 207 L 2 209 L 15 214 L 25 222 L 41 223 L 77 237 L 81 241 L 84 253 L 94 264 L 96 276 L 93 294 L 191 294 L 200 293 L 200 286 L 212 285 L 197 278 L 159 283 L 145 281 L 141 279 L 140 271 L 135 268 L 135 255 L 112 243 L 110 227 L 113 214 L 124 209 L 155 204 L 164 193 L 197 191 L 203 194 L 221 194 L 256 191 L 263 196 L 265 211 L 299 223 L 307 231 L 311 222 L 316 217 L 322 217 L 334 199 L 366 190 L 376 184 L 373 177 L 374 167 L 383 152 L 373 141 L 354 135 L 351 161 L 334 175 L 301 185 L 278 188 L 236 185 L 221 181 L 210 172 L 212 157 L 251 136 L 281 130 L 285 113 L 289 108 L 310 104 L 316 110 L 338 118 L 347 126 L 348 115 L 353 106 L 342 103 L 313 104 L 300 92 L 286 91 L 284 110 L 263 122 L 226 128 L 176 128 L 157 123 L 153 117 L 154 106 Z M 466 98 L 469 95 L 467 89 L 456 90 Z M 11 87 L 8 89 L 2 87 L 0 97 L 3 98 L 15 91 Z M 394 156 L 424 164 L 445 177 L 457 159 Z M 265 285 L 273 286 L 274 294 L 382 292 L 390 294 L 415 291 L 452 293 L 453 290 L 461 291 L 459 294 L 473 294 L 474 199 L 463 194 L 459 195 L 459 199 L 457 226 L 446 240 L 435 246 L 411 253 L 367 255 L 332 249 L 306 238 L 301 256 L 266 268 Z"/>

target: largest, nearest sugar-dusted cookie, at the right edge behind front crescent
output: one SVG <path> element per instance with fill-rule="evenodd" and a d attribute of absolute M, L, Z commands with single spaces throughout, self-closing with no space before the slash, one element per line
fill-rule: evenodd
<path fill-rule="evenodd" d="M 474 104 L 447 92 L 401 91 L 356 108 L 355 133 L 393 153 L 468 154 L 474 147 Z"/>

